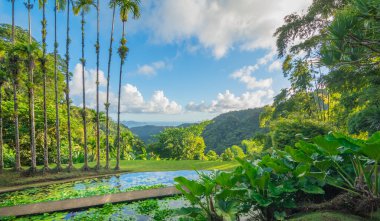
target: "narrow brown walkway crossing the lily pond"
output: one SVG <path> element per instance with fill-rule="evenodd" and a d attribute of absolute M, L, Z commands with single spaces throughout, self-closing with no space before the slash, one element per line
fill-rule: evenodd
<path fill-rule="evenodd" d="M 151 190 L 138 190 L 125 193 L 115 193 L 78 199 L 68 199 L 53 202 L 34 203 L 0 208 L 2 216 L 25 216 L 56 211 L 76 210 L 106 203 L 131 202 L 150 198 L 160 198 L 180 194 L 175 187 L 165 187 Z"/>

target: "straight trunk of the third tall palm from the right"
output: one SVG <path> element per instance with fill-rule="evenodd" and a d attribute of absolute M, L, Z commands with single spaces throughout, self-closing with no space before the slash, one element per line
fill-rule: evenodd
<path fill-rule="evenodd" d="M 100 131 L 99 131 L 99 0 L 96 7 L 96 169 L 100 169 Z"/>

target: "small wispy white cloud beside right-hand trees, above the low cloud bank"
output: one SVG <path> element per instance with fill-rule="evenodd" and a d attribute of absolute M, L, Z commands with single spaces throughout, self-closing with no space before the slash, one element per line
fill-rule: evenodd
<path fill-rule="evenodd" d="M 270 88 L 272 86 L 272 78 L 257 80 L 252 73 L 259 69 L 259 65 L 249 65 L 235 71 L 231 77 L 244 83 L 248 89 Z"/>

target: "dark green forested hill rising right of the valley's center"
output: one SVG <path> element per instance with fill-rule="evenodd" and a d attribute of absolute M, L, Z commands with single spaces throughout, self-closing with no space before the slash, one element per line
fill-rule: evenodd
<path fill-rule="evenodd" d="M 255 133 L 264 132 L 260 128 L 259 117 L 262 108 L 232 111 L 213 119 L 203 132 L 206 151 L 214 150 L 218 154 L 232 145 L 241 145 L 241 141 L 249 139 Z"/>

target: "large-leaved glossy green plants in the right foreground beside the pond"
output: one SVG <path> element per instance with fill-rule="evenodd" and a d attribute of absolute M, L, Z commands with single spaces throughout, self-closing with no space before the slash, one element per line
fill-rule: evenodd
<path fill-rule="evenodd" d="M 367 216 L 380 202 L 380 132 L 368 140 L 342 134 L 301 140 L 285 150 L 239 159 L 233 172 L 216 171 L 198 181 L 178 177 L 177 188 L 192 203 L 182 214 L 195 220 L 284 220 L 298 211 L 341 209 Z M 331 204 L 310 205 L 329 188 L 345 191 Z M 335 195 L 339 191 L 334 191 Z"/>

